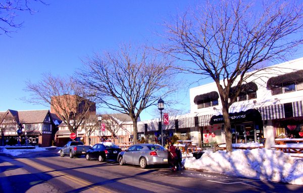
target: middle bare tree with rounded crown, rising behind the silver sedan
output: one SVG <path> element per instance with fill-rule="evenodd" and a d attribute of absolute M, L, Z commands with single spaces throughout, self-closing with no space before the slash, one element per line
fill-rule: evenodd
<path fill-rule="evenodd" d="M 95 90 L 100 105 L 131 117 L 134 143 L 140 113 L 177 88 L 171 62 L 144 48 L 94 55 L 79 75 L 83 85 Z"/>

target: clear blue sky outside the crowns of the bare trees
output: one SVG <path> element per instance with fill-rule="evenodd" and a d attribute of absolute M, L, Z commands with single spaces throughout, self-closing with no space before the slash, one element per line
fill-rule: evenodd
<path fill-rule="evenodd" d="M 114 50 L 119 44 L 159 40 L 163 22 L 186 10 L 193 1 L 46 1 L 33 3 L 38 12 L 18 13 L 23 27 L 11 37 L 0 35 L 0 111 L 49 109 L 20 101 L 27 96 L 25 81 L 41 74 L 72 74 L 81 59 L 94 52 Z M 189 110 L 189 90 L 179 93 L 179 108 Z M 141 120 L 155 115 L 153 108 Z"/>

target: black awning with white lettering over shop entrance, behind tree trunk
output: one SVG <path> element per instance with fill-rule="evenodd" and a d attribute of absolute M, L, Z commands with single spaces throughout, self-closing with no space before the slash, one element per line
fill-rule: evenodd
<path fill-rule="evenodd" d="M 261 114 L 256 109 L 249 109 L 238 113 L 229 114 L 230 122 L 262 122 Z M 214 115 L 211 117 L 210 124 L 224 123 L 223 115 Z"/>

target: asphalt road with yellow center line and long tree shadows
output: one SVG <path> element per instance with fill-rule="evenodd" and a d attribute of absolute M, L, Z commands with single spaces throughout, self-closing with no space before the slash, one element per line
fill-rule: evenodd
<path fill-rule="evenodd" d="M 0 192 L 303 192 L 303 186 L 224 176 L 140 169 L 85 158 L 61 158 L 58 150 L 0 156 Z"/>

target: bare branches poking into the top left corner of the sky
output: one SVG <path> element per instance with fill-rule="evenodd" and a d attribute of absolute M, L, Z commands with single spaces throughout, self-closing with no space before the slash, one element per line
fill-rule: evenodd
<path fill-rule="evenodd" d="M 35 13 L 30 6 L 32 2 L 40 2 L 46 5 L 42 0 L 6 0 L 0 2 L 0 34 L 9 34 L 14 32 L 13 29 L 22 27 L 23 22 L 16 23 L 17 13 Z"/>

